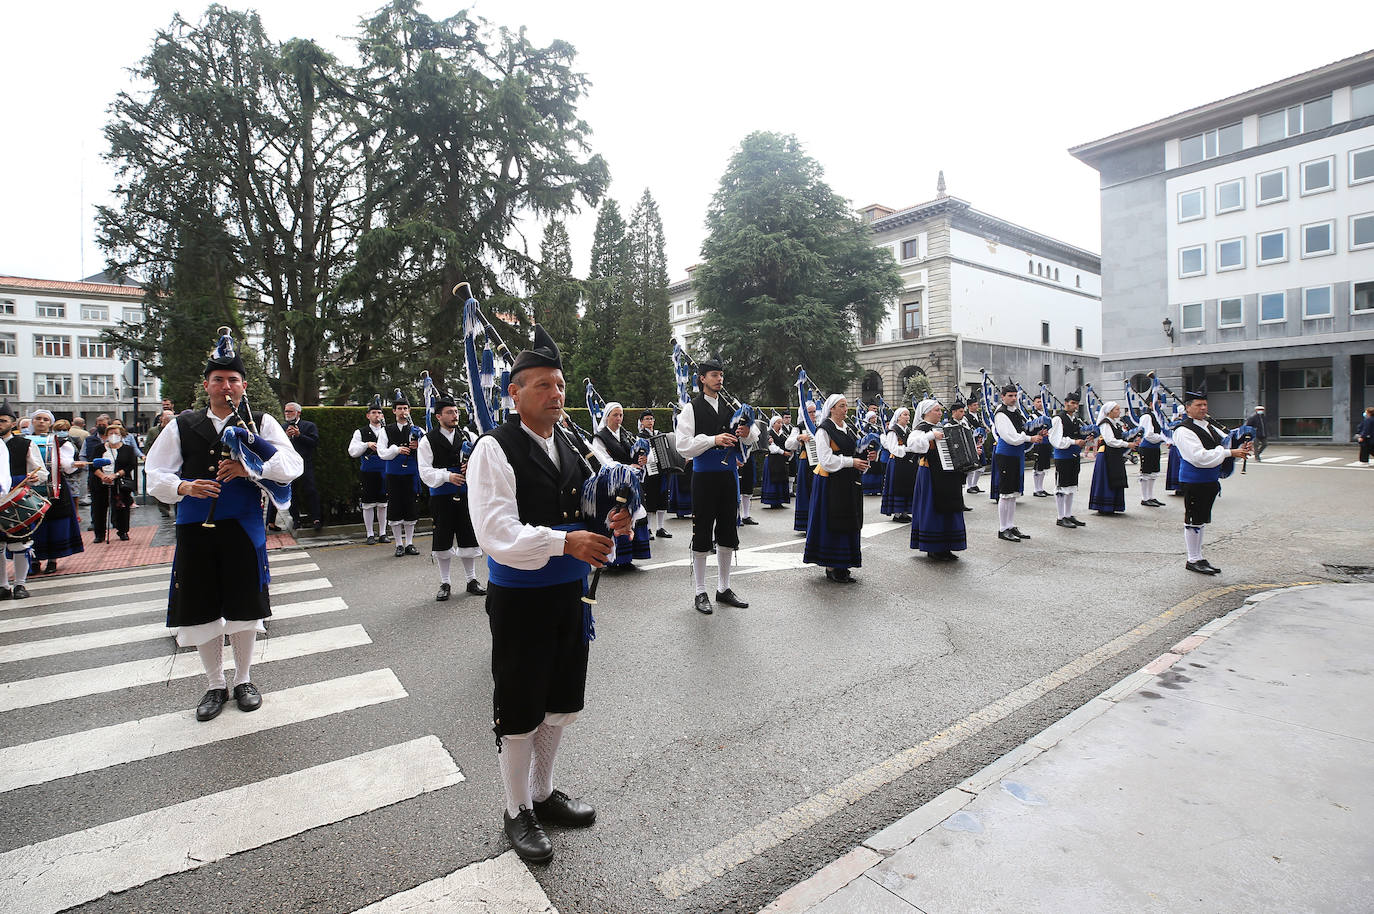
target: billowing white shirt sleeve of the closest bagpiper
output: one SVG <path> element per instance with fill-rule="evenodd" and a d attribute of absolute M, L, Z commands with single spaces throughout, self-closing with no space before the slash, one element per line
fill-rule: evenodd
<path fill-rule="evenodd" d="M 521 524 L 515 470 L 491 437 L 478 441 L 467 460 L 467 504 L 477 542 L 502 565 L 533 572 L 563 554 L 563 531 Z"/>

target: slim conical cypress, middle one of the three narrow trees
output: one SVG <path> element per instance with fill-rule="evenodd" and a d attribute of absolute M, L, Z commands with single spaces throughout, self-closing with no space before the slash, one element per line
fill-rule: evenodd
<path fill-rule="evenodd" d="M 577 360 L 573 363 L 573 378 L 578 382 L 591 378 L 594 383 L 609 389 L 610 357 L 616 350 L 620 317 L 625 309 L 628 265 L 625 220 L 620 214 L 620 203 L 606 199 L 596 213 L 592 260 L 584 283 L 587 308 L 577 335 Z"/>

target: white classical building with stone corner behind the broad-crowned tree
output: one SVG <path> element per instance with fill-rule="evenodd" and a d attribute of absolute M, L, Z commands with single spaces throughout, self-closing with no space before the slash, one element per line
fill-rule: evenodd
<path fill-rule="evenodd" d="M 974 209 L 945 192 L 907 209 L 860 210 L 872 243 L 888 250 L 903 289 L 878 331 L 859 339 L 860 377 L 849 396 L 901 401 L 926 375 L 948 399 L 982 382 L 981 370 L 1055 393 L 1098 374 L 1102 346 L 1096 254 Z M 669 287 L 679 339 L 699 333 L 691 271 Z"/>

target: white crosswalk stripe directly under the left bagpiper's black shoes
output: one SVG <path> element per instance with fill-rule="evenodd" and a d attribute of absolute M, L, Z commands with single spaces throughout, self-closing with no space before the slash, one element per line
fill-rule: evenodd
<path fill-rule="evenodd" d="M 396 673 L 390 669 L 376 669 L 273 691 L 271 700 L 264 701 L 254 713 L 227 713 L 210 727 L 196 726 L 195 715 L 188 708 L 157 717 L 26 742 L 0 749 L 0 793 L 221 742 L 247 733 L 396 701 L 405 695 L 405 689 Z"/>

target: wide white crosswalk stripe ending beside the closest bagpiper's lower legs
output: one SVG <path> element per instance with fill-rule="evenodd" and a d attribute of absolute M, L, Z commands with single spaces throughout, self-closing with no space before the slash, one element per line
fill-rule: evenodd
<path fill-rule="evenodd" d="M 460 781 L 438 737 L 420 737 L 10 851 L 0 898 L 60 911 Z"/>

